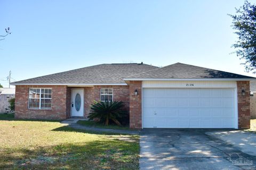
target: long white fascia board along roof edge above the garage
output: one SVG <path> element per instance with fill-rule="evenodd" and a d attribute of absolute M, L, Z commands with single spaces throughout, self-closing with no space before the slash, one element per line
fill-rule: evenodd
<path fill-rule="evenodd" d="M 246 79 L 215 79 L 215 78 L 205 78 L 205 79 L 159 79 L 159 78 L 123 78 L 124 81 L 256 81 L 256 78 L 246 78 Z"/>

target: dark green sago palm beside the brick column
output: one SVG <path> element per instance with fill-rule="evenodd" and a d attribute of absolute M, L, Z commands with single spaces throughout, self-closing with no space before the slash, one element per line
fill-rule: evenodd
<path fill-rule="evenodd" d="M 105 125 L 108 125 L 111 120 L 118 126 L 121 126 L 119 119 L 127 113 L 123 109 L 124 106 L 125 103 L 123 101 L 95 101 L 91 105 L 88 118 L 89 120 L 98 119 L 100 122 L 105 122 Z"/>

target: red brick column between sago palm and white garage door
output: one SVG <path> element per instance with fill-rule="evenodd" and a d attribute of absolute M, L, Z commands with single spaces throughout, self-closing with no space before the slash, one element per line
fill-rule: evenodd
<path fill-rule="evenodd" d="M 130 128 L 141 129 L 141 81 L 130 82 Z M 138 90 L 138 95 L 134 91 Z"/>

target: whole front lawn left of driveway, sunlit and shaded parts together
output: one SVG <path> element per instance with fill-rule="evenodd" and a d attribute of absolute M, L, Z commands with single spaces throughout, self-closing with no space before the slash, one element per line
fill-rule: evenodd
<path fill-rule="evenodd" d="M 139 169 L 137 135 L 95 134 L 0 115 L 0 169 Z"/>

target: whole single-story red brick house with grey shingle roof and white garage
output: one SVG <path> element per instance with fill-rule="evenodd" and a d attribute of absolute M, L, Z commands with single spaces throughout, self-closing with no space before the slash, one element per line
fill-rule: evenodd
<path fill-rule="evenodd" d="M 100 64 L 12 83 L 15 118 L 87 117 L 93 100 L 124 101 L 130 128 L 250 128 L 253 77 L 176 63 Z"/>

